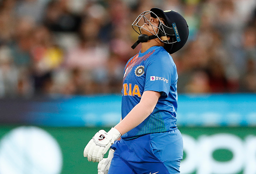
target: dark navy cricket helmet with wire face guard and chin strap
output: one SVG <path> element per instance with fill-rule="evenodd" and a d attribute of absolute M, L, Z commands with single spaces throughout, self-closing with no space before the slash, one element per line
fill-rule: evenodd
<path fill-rule="evenodd" d="M 158 26 L 150 22 L 150 17 L 158 18 Z M 160 21 L 160 18 L 163 19 L 164 23 Z M 151 25 L 153 30 L 149 31 L 144 28 L 143 25 L 145 23 Z M 187 21 L 178 12 L 172 10 L 162 11 L 162 9 L 158 8 L 152 8 L 150 11 L 142 12 L 133 22 L 132 28 L 140 36 L 142 36 L 141 30 L 147 30 L 152 33 L 153 36 L 148 36 L 149 40 L 158 38 L 164 43 L 164 48 L 169 54 L 175 53 L 181 49 L 187 42 L 189 34 Z M 139 42 L 142 41 L 138 39 L 137 44 Z M 147 42 L 147 40 L 143 42 Z M 132 46 L 133 49 L 137 46 L 136 44 L 134 45 Z"/>

